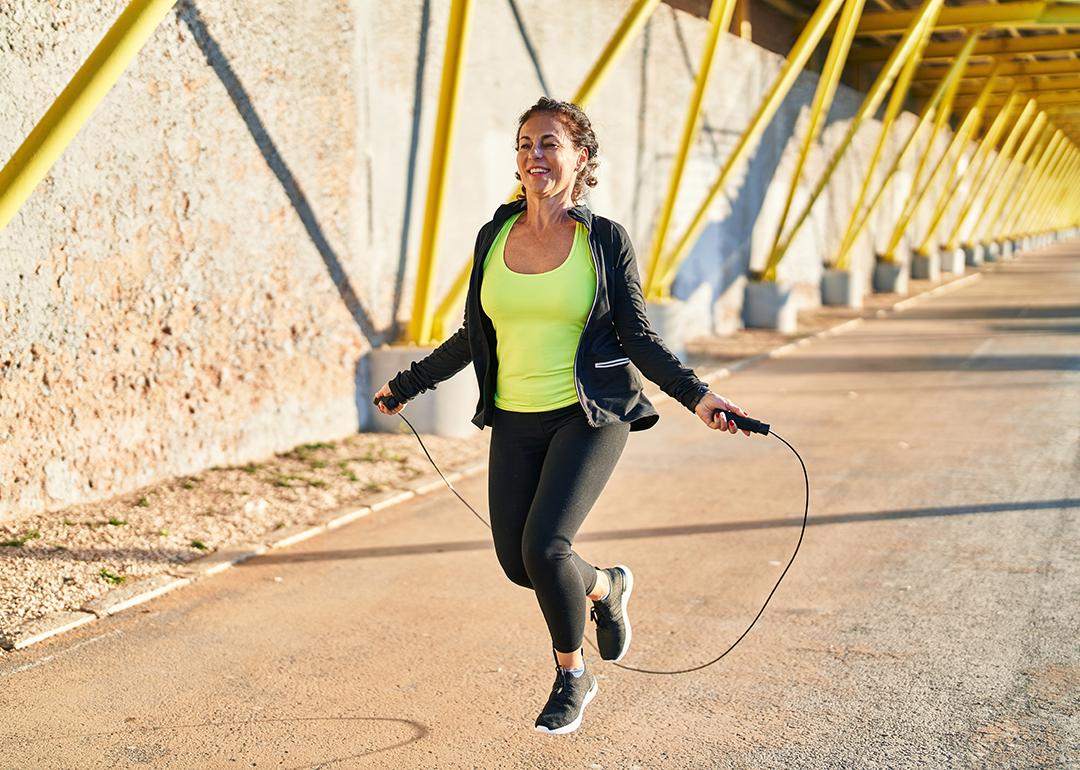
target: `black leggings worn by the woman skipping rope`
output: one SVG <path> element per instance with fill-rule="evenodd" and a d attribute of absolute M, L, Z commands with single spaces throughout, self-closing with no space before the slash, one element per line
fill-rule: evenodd
<path fill-rule="evenodd" d="M 507 577 L 532 589 L 559 652 L 581 647 L 585 595 L 596 569 L 573 537 L 604 490 L 630 425 L 592 428 L 581 406 L 552 411 L 495 410 L 488 509 L 495 552 Z"/>

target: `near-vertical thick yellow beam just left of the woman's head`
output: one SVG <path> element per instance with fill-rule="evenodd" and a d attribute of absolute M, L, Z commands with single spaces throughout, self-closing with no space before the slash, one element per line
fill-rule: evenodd
<path fill-rule="evenodd" d="M 416 291 L 413 295 L 413 316 L 408 324 L 408 342 L 428 345 L 431 339 L 433 302 L 435 299 L 435 265 L 438 226 L 443 217 L 443 197 L 449 174 L 450 152 L 454 146 L 454 123 L 469 39 L 469 14 L 472 0 L 451 0 L 450 18 L 446 30 L 446 52 L 443 55 L 443 81 L 438 92 L 438 112 L 435 117 L 435 146 L 431 151 L 431 171 L 428 175 L 428 198 L 424 204 L 423 232 L 420 240 L 420 261 L 417 267 Z"/>

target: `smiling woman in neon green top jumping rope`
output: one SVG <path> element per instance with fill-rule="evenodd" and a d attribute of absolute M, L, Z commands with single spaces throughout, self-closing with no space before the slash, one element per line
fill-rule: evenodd
<path fill-rule="evenodd" d="M 597 150 L 576 105 L 544 97 L 522 114 L 522 193 L 476 238 L 464 324 L 376 393 L 400 402 L 389 409 L 377 401 L 393 415 L 473 363 L 473 422 L 491 427 L 496 554 L 507 577 L 536 592 L 551 633 L 555 684 L 536 720 L 549 733 L 576 730 L 596 694 L 581 647 L 585 597 L 602 659 L 621 660 L 631 640 L 630 568 L 597 569 L 572 544 L 627 433 L 659 419 L 636 369 L 712 429 L 734 433 L 724 411 L 746 414 L 711 392 L 649 326 L 626 231 L 581 203 L 596 185 Z"/>

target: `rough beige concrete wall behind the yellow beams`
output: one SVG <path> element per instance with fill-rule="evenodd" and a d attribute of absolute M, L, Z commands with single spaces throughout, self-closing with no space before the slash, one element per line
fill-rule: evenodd
<path fill-rule="evenodd" d="M 367 424 L 365 353 L 409 314 L 448 4 L 178 4 L 0 232 L 0 517 Z M 124 5 L 0 4 L 0 158 Z M 541 82 L 569 97 L 626 8 L 515 5 L 517 18 L 511 3 L 476 5 L 440 295 L 512 189 L 518 113 Z M 590 106 L 592 205 L 627 226 L 639 254 L 704 33 L 661 6 Z M 730 36 L 719 55 L 676 231 L 781 64 Z M 738 325 L 735 276 L 764 260 L 815 84 L 800 79 L 679 275 L 677 296 L 705 300 L 703 330 Z M 858 102 L 840 89 L 825 149 Z M 860 158 L 875 137 L 860 134 Z M 809 301 L 858 178 L 846 162 L 782 266 Z"/>

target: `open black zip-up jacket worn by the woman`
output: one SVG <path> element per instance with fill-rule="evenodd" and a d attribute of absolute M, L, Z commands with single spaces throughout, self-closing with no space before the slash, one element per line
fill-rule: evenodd
<path fill-rule="evenodd" d="M 390 390 L 397 401 L 404 403 L 431 390 L 472 361 L 481 394 L 472 421 L 482 430 L 491 424 L 499 362 L 495 326 L 480 302 L 484 258 L 507 219 L 524 210 L 524 200 L 503 204 L 491 221 L 481 228 L 473 247 L 464 323 L 430 354 L 390 380 Z M 588 228 L 589 249 L 596 269 L 596 296 L 573 359 L 575 387 L 589 424 L 629 422 L 632 431 L 656 424 L 660 416 L 645 397 L 637 370 L 693 411 L 708 386 L 667 350 L 649 325 L 637 259 L 626 231 L 621 225 L 594 215 L 583 204 L 568 214 Z"/>

